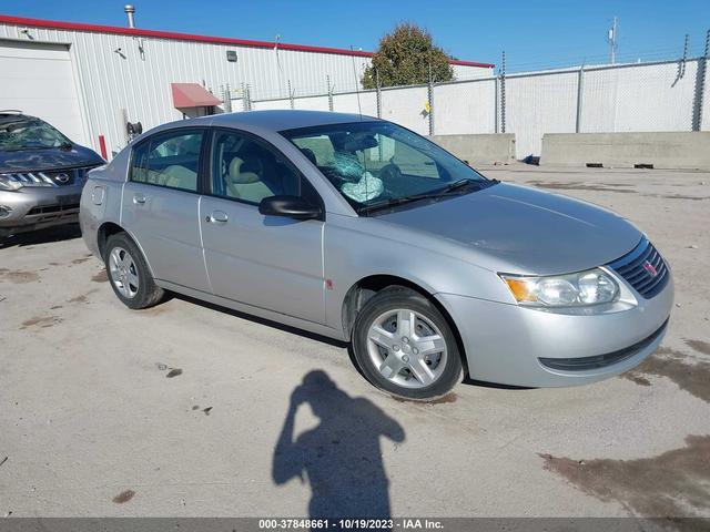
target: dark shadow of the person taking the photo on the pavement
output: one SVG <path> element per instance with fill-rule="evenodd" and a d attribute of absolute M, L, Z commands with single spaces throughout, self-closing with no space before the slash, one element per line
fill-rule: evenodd
<path fill-rule="evenodd" d="M 294 439 L 296 411 L 305 403 L 320 423 Z M 381 436 L 395 442 L 405 440 L 399 423 L 373 402 L 349 397 L 324 371 L 311 371 L 291 396 L 274 450 L 274 482 L 307 481 L 313 519 L 389 518 L 389 481 Z"/>

